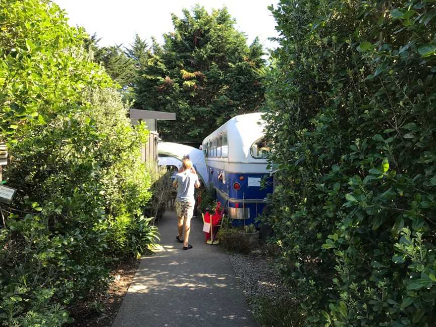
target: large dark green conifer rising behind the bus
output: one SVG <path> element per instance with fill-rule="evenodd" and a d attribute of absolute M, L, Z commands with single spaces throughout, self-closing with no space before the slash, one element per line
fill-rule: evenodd
<path fill-rule="evenodd" d="M 259 111 L 264 53 L 258 39 L 247 45 L 226 8 L 209 14 L 197 5 L 172 19 L 175 31 L 139 61 L 135 107 L 176 113 L 159 124 L 162 138 L 198 143 L 231 117 Z"/>

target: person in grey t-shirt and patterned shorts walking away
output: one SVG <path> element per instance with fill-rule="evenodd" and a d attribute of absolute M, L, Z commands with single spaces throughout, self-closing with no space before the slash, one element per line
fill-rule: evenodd
<path fill-rule="evenodd" d="M 192 249 L 189 244 L 189 233 L 191 230 L 191 218 L 194 212 L 195 198 L 194 190 L 200 187 L 200 181 L 195 170 L 191 170 L 192 161 L 183 160 L 181 172 L 176 175 L 173 186 L 177 186 L 176 213 L 178 219 L 179 235 L 176 239 L 183 243 L 183 249 Z M 182 240 L 183 226 L 185 226 L 185 238 Z"/>

